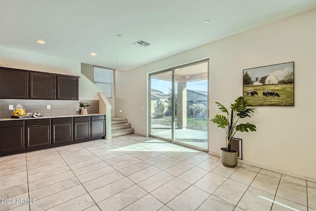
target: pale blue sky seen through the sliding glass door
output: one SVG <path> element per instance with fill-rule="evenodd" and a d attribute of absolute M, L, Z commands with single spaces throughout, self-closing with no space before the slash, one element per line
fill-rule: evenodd
<path fill-rule="evenodd" d="M 169 81 L 163 81 L 158 79 L 151 79 L 151 88 L 162 91 L 163 93 L 169 93 L 172 83 Z M 207 91 L 207 80 L 188 82 L 187 89 Z"/>

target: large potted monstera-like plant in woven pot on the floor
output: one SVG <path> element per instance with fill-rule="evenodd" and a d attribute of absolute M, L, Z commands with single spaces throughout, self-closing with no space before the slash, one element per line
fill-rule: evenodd
<path fill-rule="evenodd" d="M 228 110 L 220 104 L 219 102 L 215 102 L 218 106 L 218 109 L 222 112 L 226 113 L 224 115 L 215 115 L 215 118 L 210 120 L 211 122 L 217 124 L 217 127 L 221 127 L 225 129 L 226 137 L 227 137 L 227 147 L 221 148 L 221 161 L 224 166 L 227 167 L 236 167 L 237 166 L 237 150 L 231 149 L 231 144 L 233 141 L 233 137 L 237 131 L 240 132 L 249 132 L 256 131 L 256 126 L 250 123 L 239 124 L 237 122 L 239 119 L 243 119 L 246 117 L 251 117 L 254 113 L 254 108 L 247 108 L 249 104 L 247 101 L 243 100 L 242 97 L 238 97 L 235 100 L 235 103 L 231 104 L 231 114 Z"/>

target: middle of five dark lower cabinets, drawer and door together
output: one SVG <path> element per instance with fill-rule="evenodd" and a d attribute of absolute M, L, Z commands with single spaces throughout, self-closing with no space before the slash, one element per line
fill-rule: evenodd
<path fill-rule="evenodd" d="M 52 144 L 73 141 L 73 118 L 55 118 L 51 125 Z"/>

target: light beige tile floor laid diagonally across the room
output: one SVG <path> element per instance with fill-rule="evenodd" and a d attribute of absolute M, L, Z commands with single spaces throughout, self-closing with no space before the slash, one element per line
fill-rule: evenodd
<path fill-rule="evenodd" d="M 316 211 L 316 182 L 133 134 L 0 157 L 0 199 L 0 211 Z"/>

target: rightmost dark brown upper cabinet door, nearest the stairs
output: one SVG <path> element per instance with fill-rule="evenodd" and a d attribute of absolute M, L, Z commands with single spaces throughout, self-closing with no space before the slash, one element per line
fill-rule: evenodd
<path fill-rule="evenodd" d="M 79 77 L 57 76 L 57 99 L 79 99 Z"/>

